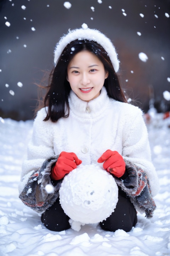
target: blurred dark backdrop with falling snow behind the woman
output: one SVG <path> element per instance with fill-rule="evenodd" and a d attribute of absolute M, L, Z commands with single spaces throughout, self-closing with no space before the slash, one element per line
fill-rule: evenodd
<path fill-rule="evenodd" d="M 131 103 L 147 112 L 154 98 L 158 112 L 169 111 L 163 92 L 170 91 L 170 0 L 70 0 L 70 9 L 64 2 L 0 0 L 0 116 L 33 118 L 38 91 L 34 82 L 52 69 L 60 37 L 83 23 L 112 40 Z M 140 52 L 147 55 L 146 62 L 138 57 Z"/>

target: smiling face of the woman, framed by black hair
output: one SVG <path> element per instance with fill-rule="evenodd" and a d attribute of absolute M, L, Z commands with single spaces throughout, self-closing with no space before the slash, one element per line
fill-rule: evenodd
<path fill-rule="evenodd" d="M 75 54 L 67 67 L 70 87 L 84 101 L 93 100 L 100 95 L 107 77 L 108 71 L 105 71 L 100 59 L 86 50 Z"/>

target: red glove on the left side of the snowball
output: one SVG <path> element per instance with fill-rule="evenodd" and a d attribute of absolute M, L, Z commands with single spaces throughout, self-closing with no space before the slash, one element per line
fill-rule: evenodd
<path fill-rule="evenodd" d="M 53 180 L 61 180 L 66 174 L 77 168 L 82 161 L 74 153 L 62 151 L 57 159 L 56 165 L 51 170 Z"/>

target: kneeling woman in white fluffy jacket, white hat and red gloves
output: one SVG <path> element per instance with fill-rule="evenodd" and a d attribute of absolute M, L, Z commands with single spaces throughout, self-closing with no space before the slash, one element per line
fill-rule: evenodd
<path fill-rule="evenodd" d="M 151 162 L 142 111 L 127 103 L 112 42 L 97 30 L 69 31 L 55 49 L 55 68 L 34 121 L 28 159 L 22 167 L 21 200 L 46 228 L 70 228 L 59 199 L 66 174 L 78 165 L 98 164 L 117 182 L 118 203 L 102 229 L 130 231 L 136 209 L 152 218 L 158 177 Z M 53 190 L 47 193 L 46 185 Z"/>

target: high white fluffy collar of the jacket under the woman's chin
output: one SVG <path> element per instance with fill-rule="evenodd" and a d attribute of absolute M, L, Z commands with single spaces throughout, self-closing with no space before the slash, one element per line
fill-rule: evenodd
<path fill-rule="evenodd" d="M 70 110 L 79 117 L 95 118 L 100 116 L 109 104 L 106 88 L 103 86 L 100 95 L 89 102 L 81 100 L 72 90 L 68 98 Z"/>

